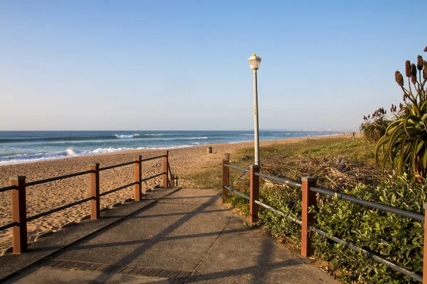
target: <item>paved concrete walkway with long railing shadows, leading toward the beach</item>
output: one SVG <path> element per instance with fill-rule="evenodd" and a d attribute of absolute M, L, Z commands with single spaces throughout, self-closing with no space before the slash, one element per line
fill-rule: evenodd
<path fill-rule="evenodd" d="M 162 197 L 7 280 L 184 282 L 339 283 L 259 229 L 243 226 L 241 217 L 221 206 L 218 191 L 190 189 Z"/>

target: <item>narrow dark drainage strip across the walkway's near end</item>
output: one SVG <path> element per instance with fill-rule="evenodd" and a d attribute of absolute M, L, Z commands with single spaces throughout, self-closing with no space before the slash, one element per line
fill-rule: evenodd
<path fill-rule="evenodd" d="M 152 277 L 171 278 L 177 280 L 186 280 L 190 277 L 188 271 L 169 271 L 159 268 L 142 268 L 135 266 L 114 266 L 105 263 L 88 263 L 81 261 L 48 261 L 43 266 L 51 268 L 62 268 L 72 271 L 98 271 L 105 273 L 120 273 L 129 275 L 142 275 Z"/>

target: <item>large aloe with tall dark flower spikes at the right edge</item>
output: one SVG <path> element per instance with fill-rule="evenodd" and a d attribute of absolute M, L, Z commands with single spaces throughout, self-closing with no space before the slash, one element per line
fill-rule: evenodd
<path fill-rule="evenodd" d="M 427 47 L 424 52 L 427 52 Z M 399 111 L 396 106 L 391 107 L 395 120 L 376 143 L 376 160 L 379 160 L 382 150 L 383 169 L 389 160 L 399 175 L 407 173 L 419 180 L 427 173 L 427 62 L 418 55 L 417 64 L 407 60 L 405 69 L 407 88 L 401 72 L 395 73 L 396 82 L 404 92 L 404 103 Z"/>

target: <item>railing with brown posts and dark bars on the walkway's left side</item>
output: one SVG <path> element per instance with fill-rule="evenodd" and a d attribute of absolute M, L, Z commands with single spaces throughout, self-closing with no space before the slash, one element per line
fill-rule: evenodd
<path fill-rule="evenodd" d="M 162 158 L 162 173 L 158 173 L 156 175 L 152 175 L 148 178 L 142 178 L 142 162 L 148 160 L 154 160 Z M 102 170 L 110 170 L 112 168 L 119 168 L 125 165 L 135 165 L 135 180 L 134 182 L 130 182 L 127 185 L 122 185 L 120 187 L 116 187 L 112 190 L 107 190 L 105 192 L 100 193 L 100 172 Z M 153 178 L 157 178 L 162 176 L 162 186 L 168 187 L 169 180 L 168 174 L 172 176 L 170 172 L 169 165 L 169 151 L 165 151 L 163 155 L 157 155 L 151 158 L 142 159 L 141 155 L 135 157 L 134 160 L 126 163 L 121 163 L 117 165 L 109 165 L 107 167 L 100 168 L 99 163 L 94 163 L 90 165 L 89 170 L 85 170 L 79 173 L 70 173 L 68 175 L 61 175 L 53 178 L 46 178 L 43 180 L 36 180 L 33 182 L 26 182 L 25 176 L 14 176 L 10 178 L 11 185 L 7 187 L 1 187 L 0 192 L 11 191 L 11 213 L 12 220 L 9 224 L 0 226 L 0 231 L 12 228 L 12 243 L 13 243 L 13 252 L 14 253 L 23 253 L 28 249 L 27 242 L 27 222 L 33 221 L 34 219 L 38 219 L 41 217 L 45 217 L 49 214 L 53 214 L 55 212 L 61 211 L 63 209 L 68 209 L 70 207 L 76 206 L 78 204 L 82 204 L 85 202 L 90 202 L 90 219 L 100 219 L 100 197 L 109 195 L 112 192 L 117 192 L 118 190 L 123 190 L 127 187 L 134 186 L 134 195 L 135 200 L 142 200 L 142 182 L 147 180 L 151 180 Z M 64 180 L 67 178 L 73 178 L 80 175 L 89 175 L 89 192 L 90 197 L 87 197 L 83 200 L 78 200 L 69 204 L 65 204 L 61 207 L 57 207 L 46 212 L 41 212 L 39 214 L 33 215 L 31 217 L 26 216 L 26 187 L 31 187 L 33 185 L 41 185 L 46 182 L 53 182 L 56 180 Z"/>

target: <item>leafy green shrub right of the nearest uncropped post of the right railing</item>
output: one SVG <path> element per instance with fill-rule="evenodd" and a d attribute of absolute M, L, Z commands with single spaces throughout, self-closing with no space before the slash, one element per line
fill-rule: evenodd
<path fill-rule="evenodd" d="M 377 187 L 359 184 L 345 194 L 423 214 L 427 182 L 407 176 L 389 177 Z M 423 223 L 378 209 L 369 209 L 334 197 L 322 197 L 316 227 L 399 266 L 422 274 Z M 416 283 L 408 276 L 378 264 L 360 253 L 315 236 L 316 255 L 330 261 L 348 282 Z"/>

